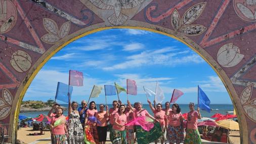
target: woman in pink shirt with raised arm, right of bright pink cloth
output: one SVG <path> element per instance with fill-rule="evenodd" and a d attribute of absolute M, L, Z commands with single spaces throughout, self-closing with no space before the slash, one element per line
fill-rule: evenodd
<path fill-rule="evenodd" d="M 155 101 L 154 101 L 154 103 L 155 103 Z M 152 104 L 149 100 L 148 100 L 148 104 L 149 104 L 149 107 L 150 107 L 150 109 L 152 110 L 152 112 L 154 114 L 154 118 L 157 119 L 160 122 L 162 132 L 164 133 L 165 132 L 165 126 L 167 125 L 167 121 L 166 121 L 167 117 L 165 116 L 165 112 L 162 110 L 162 105 L 157 104 L 156 109 L 155 109 L 155 108 L 153 108 L 153 106 L 152 106 Z M 160 137 L 161 144 L 163 144 L 163 141 L 164 141 L 164 136 L 163 135 Z M 158 139 L 155 140 L 155 144 L 157 144 L 157 141 L 158 141 Z"/>

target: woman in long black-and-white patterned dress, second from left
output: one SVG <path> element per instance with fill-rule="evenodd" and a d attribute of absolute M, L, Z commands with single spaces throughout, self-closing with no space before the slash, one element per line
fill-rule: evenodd
<path fill-rule="evenodd" d="M 68 137 L 67 141 L 69 144 L 83 144 L 83 128 L 79 120 L 79 113 L 76 110 L 78 107 L 77 102 L 70 100 L 68 103 Z"/>

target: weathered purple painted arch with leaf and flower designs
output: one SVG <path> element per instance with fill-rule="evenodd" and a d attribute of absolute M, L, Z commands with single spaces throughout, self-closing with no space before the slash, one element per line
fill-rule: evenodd
<path fill-rule="evenodd" d="M 174 37 L 218 73 L 238 112 L 242 143 L 255 142 L 256 1 L 0 0 L 0 120 L 15 123 L 26 89 L 63 46 L 109 28 Z"/>

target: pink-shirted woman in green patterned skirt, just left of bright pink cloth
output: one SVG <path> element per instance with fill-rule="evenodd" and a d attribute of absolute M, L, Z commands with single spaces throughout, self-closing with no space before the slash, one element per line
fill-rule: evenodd
<path fill-rule="evenodd" d="M 120 105 L 118 113 L 114 115 L 113 125 L 113 144 L 126 144 L 125 123 L 127 122 L 126 115 L 124 114 L 125 106 Z"/>

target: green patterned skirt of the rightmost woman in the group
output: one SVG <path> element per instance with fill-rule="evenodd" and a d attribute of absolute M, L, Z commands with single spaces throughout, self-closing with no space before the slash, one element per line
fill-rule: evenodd
<path fill-rule="evenodd" d="M 201 138 L 198 129 L 187 129 L 184 144 L 197 143 L 201 144 Z"/>

